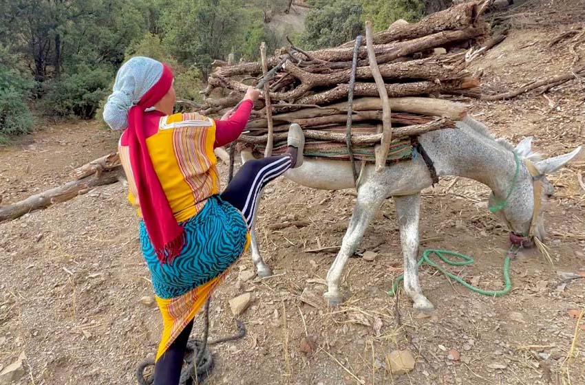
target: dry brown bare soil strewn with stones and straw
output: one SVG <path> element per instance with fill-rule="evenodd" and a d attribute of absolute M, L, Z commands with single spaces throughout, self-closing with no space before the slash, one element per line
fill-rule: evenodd
<path fill-rule="evenodd" d="M 512 30 L 473 66 L 483 69 L 483 82 L 495 91 L 565 72 L 573 42 L 548 43 L 569 27 Z M 584 142 L 584 91 L 579 78 L 542 96 L 472 101 L 471 109 L 496 135 L 511 142 L 534 135 L 539 151 L 560 155 Z M 116 141 L 116 133 L 97 122 L 69 122 L 0 148 L 2 204 L 67 181 L 69 170 L 114 151 Z M 221 171 L 226 175 L 226 166 Z M 513 289 L 500 298 L 469 292 L 423 267 L 423 289 L 436 311 L 418 314 L 401 297 L 401 325 L 396 300 L 386 294 L 402 271 L 392 201 L 362 242 L 361 251 L 378 252 L 376 259 L 348 263 L 345 303 L 312 307 L 299 296 L 305 288 L 324 292 L 335 254 L 304 250 L 341 243 L 355 198 L 284 179 L 268 186 L 257 228 L 275 276 L 240 281 L 240 270 L 252 267 L 246 255 L 217 290 L 212 338 L 235 331 L 228 300 L 251 292 L 253 303 L 240 318 L 247 336 L 213 347 L 217 365 L 209 384 L 585 384 L 585 320 L 577 325 L 568 313 L 585 309 L 585 279 L 560 285 L 559 274 L 585 275 L 579 173 L 585 174 L 584 155 L 550 178 L 555 196 L 546 205 L 546 228 L 554 266 L 536 250 L 520 252 L 511 265 Z M 445 178 L 424 192 L 421 249 L 474 256 L 474 265 L 451 270 L 481 287 L 499 288 L 507 231 L 487 210 L 485 186 L 453 182 Z M 311 224 L 268 230 L 290 217 Z M 152 296 L 151 283 L 140 255 L 138 219 L 121 184 L 0 223 L 0 259 L 0 371 L 24 351 L 27 374 L 17 384 L 136 383 L 136 364 L 156 351 L 161 322 L 158 309 L 139 301 Z M 202 330 L 201 318 L 194 333 Z M 301 340 L 307 336 L 317 347 L 304 353 Z M 387 370 L 386 357 L 395 349 L 416 358 L 407 375 Z M 451 349 L 460 360 L 449 360 Z"/>

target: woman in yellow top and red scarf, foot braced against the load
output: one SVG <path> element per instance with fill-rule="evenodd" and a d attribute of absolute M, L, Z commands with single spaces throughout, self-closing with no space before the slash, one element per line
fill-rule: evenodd
<path fill-rule="evenodd" d="M 222 120 L 173 114 L 171 69 L 136 57 L 118 70 L 105 104 L 107 124 L 125 129 L 118 150 L 129 201 L 142 218 L 142 254 L 162 314 L 156 385 L 178 384 L 193 318 L 248 248 L 260 190 L 303 162 L 304 135 L 293 124 L 285 155 L 246 162 L 220 193 L 213 148 L 237 139 L 258 97 L 249 88 L 240 107 Z"/>

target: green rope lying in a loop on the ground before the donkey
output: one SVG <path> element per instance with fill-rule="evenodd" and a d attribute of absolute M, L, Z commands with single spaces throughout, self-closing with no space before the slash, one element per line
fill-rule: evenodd
<path fill-rule="evenodd" d="M 462 278 L 459 278 L 455 274 L 447 272 L 447 270 L 443 269 L 443 267 L 440 267 L 439 265 L 437 265 L 436 263 L 431 261 L 431 259 L 429 258 L 430 254 L 437 254 L 438 257 L 443 260 L 443 262 L 445 262 L 445 263 L 447 263 L 447 265 L 451 265 L 451 266 L 471 265 L 472 263 L 474 263 L 473 258 L 471 258 L 470 256 L 467 256 L 467 255 L 459 254 L 458 252 L 451 252 L 449 250 L 428 249 L 428 250 L 425 250 L 421 259 L 418 260 L 418 266 L 421 266 L 421 265 L 423 265 L 423 263 L 426 263 L 427 265 L 434 267 L 439 272 L 445 274 L 445 276 L 448 276 L 452 280 L 460 283 L 461 285 L 467 287 L 467 289 L 470 289 L 473 292 L 482 294 L 484 296 L 499 297 L 499 296 L 503 296 L 504 294 L 508 294 L 510 292 L 510 289 L 512 288 L 512 283 L 510 281 L 510 256 L 509 256 L 509 254 L 506 256 L 506 259 L 504 259 L 504 274 L 503 274 L 504 275 L 504 289 L 501 289 L 501 290 L 484 290 L 484 289 L 480 289 L 479 287 L 475 287 L 474 285 L 470 285 L 469 283 L 463 281 Z M 457 256 L 460 259 L 462 259 L 462 261 L 451 261 L 444 254 Z M 396 281 L 394 281 L 394 285 L 392 285 L 392 290 L 390 292 L 388 292 L 388 294 L 390 294 L 390 296 L 394 296 L 396 294 L 396 291 L 398 290 L 398 283 L 403 281 L 403 279 L 404 279 L 404 274 L 399 276 L 396 279 Z"/>

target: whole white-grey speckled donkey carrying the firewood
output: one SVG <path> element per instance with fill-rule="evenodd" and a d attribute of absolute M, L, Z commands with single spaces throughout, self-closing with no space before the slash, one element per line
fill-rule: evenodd
<path fill-rule="evenodd" d="M 544 241 L 541 208 L 553 193 L 553 186 L 545 175 L 560 169 L 581 151 L 579 146 L 566 155 L 543 160 L 531 150 L 531 141 L 532 137 L 527 137 L 514 148 L 504 139 L 496 140 L 484 124 L 469 117 L 456 122 L 455 129 L 432 131 L 418 137 L 418 142 L 434 162 L 436 175 L 457 175 L 480 181 L 491 188 L 490 205 L 505 200 L 507 204 L 496 214 L 511 231 L 512 241 L 513 237 L 522 237 L 521 241 L 526 243 L 534 237 Z M 252 158 L 248 149 L 242 150 L 240 155 L 243 162 Z M 351 164 L 339 160 L 305 159 L 301 167 L 288 170 L 285 177 L 302 186 L 322 190 L 354 188 Z M 368 164 L 363 168 L 360 180 L 363 182 L 359 186 L 348 230 L 327 274 L 325 298 L 331 305 L 342 302 L 339 284 L 343 267 L 359 247 L 376 210 L 385 199 L 393 197 L 404 256 L 405 292 L 412 299 L 414 309 L 434 309 L 421 289 L 416 263 L 421 190 L 433 184 L 429 167 L 421 156 L 392 164 L 378 173 L 373 164 Z M 536 181 L 538 188 L 535 188 Z M 251 238 L 257 274 L 270 276 L 272 273 L 262 260 L 253 229 Z"/>

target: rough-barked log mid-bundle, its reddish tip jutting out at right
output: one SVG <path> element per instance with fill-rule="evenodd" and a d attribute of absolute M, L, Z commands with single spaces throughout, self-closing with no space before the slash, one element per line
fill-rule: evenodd
<path fill-rule="evenodd" d="M 385 85 L 385 89 L 390 98 L 401 98 L 403 96 L 415 96 L 435 93 L 449 93 L 451 90 L 461 90 L 475 88 L 479 86 L 479 80 L 475 78 L 466 78 L 463 80 L 453 80 L 443 83 L 430 81 L 412 82 L 412 83 L 394 83 Z M 297 100 L 299 104 L 329 104 L 343 99 L 347 96 L 349 86 L 341 84 L 328 91 L 320 94 L 306 96 Z M 378 88 L 375 83 L 356 83 L 354 94 L 356 96 L 378 96 Z"/>

